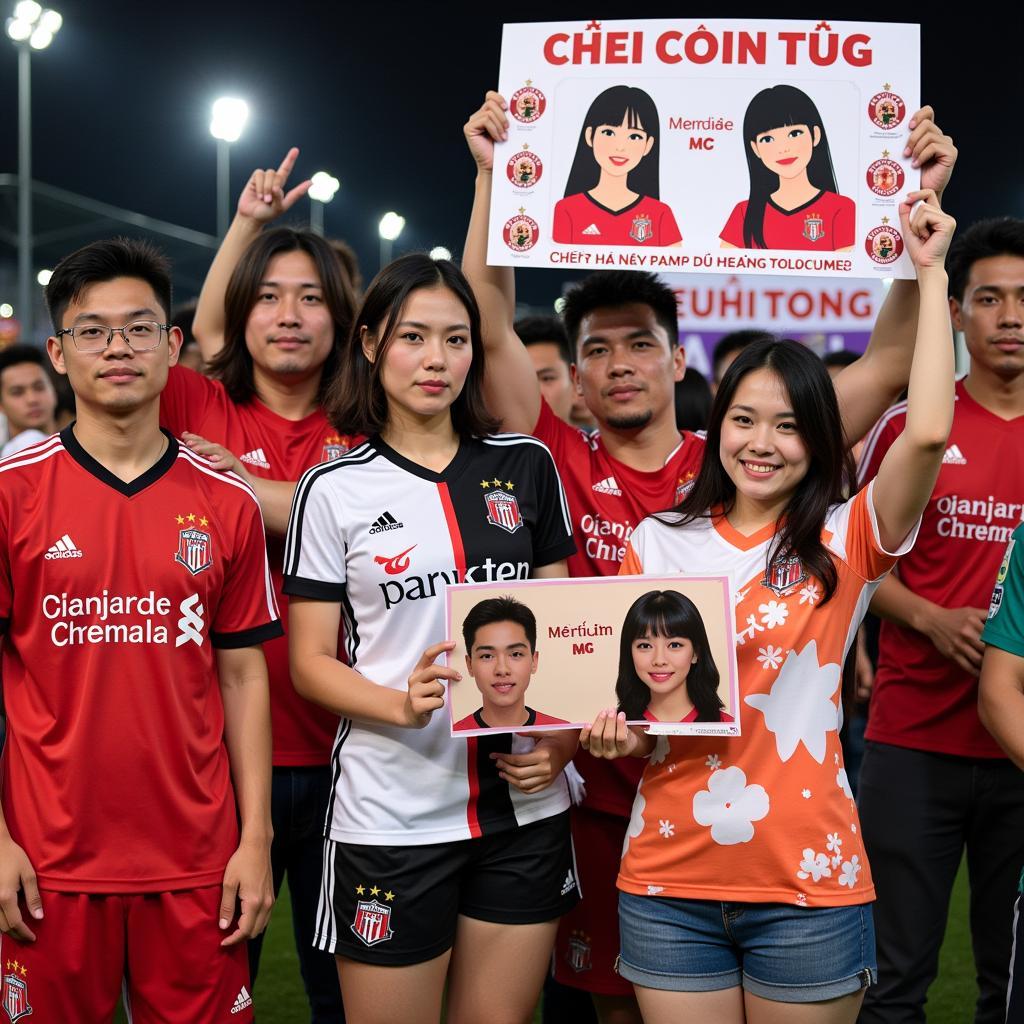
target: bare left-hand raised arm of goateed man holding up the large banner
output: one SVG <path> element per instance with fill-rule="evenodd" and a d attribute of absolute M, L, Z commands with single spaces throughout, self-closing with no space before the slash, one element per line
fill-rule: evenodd
<path fill-rule="evenodd" d="M 541 386 L 534 364 L 513 327 L 514 271 L 510 266 L 487 265 L 495 142 L 508 138 L 507 109 L 499 93 L 488 92 L 483 105 L 464 128 L 469 152 L 476 161 L 476 189 L 462 269 L 473 287 L 483 322 L 486 354 L 483 387 L 487 408 L 502 421 L 504 430 L 529 433 L 541 415 Z"/>

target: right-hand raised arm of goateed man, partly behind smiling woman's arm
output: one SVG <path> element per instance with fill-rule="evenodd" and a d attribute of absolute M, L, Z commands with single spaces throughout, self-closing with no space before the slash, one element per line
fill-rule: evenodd
<path fill-rule="evenodd" d="M 931 106 L 910 119 L 903 151 L 921 168 L 921 187 L 932 189 L 938 202 L 956 163 L 956 146 L 934 121 Z M 874 425 L 907 385 L 918 332 L 921 290 L 916 282 L 894 281 L 882 303 L 864 354 L 836 378 L 847 441 L 853 445 Z"/>

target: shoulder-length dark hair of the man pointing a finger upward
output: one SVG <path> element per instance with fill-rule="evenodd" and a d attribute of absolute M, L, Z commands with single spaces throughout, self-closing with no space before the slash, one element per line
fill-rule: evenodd
<path fill-rule="evenodd" d="M 352 327 L 355 296 L 331 244 L 318 234 L 294 227 L 271 227 L 253 240 L 239 260 L 224 293 L 224 347 L 210 360 L 208 371 L 224 385 L 231 401 L 242 403 L 256 395 L 253 357 L 246 345 L 246 326 L 256 305 L 266 268 L 274 256 L 304 252 L 316 266 L 324 301 L 334 321 L 334 346 L 321 370 L 318 399 L 323 403 L 339 356 Z"/>

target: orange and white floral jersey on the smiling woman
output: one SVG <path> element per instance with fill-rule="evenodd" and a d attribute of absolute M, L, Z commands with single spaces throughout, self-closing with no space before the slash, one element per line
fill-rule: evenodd
<path fill-rule="evenodd" d="M 732 577 L 738 737 L 658 737 L 633 805 L 618 888 L 637 895 L 841 906 L 874 898 L 839 741 L 843 663 L 897 557 L 883 550 L 871 484 L 822 530 L 833 599 L 797 558 L 768 564 L 774 526 L 645 519 L 622 573 Z"/>

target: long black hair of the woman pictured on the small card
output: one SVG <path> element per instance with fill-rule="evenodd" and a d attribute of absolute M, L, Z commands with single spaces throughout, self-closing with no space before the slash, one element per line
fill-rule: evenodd
<path fill-rule="evenodd" d="M 717 722 L 724 705 L 718 695 L 718 666 L 711 653 L 708 631 L 697 606 L 677 590 L 651 590 L 638 597 L 623 621 L 618 643 L 618 710 L 631 720 L 643 718 L 650 690 L 633 664 L 633 642 L 644 637 L 683 637 L 693 644 L 696 660 L 686 677 L 686 693 L 698 722 Z"/>

